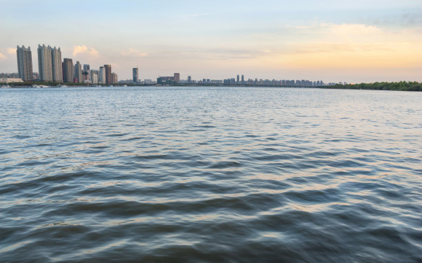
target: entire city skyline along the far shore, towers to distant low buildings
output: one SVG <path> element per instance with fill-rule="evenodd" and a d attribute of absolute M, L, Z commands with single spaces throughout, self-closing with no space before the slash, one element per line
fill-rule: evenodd
<path fill-rule="evenodd" d="M 103 65 L 98 70 L 93 70 L 88 64 L 79 61 L 73 63 L 72 59 L 61 58 L 60 48 L 52 48 L 50 45 L 38 45 L 38 68 L 39 72 L 32 72 L 31 48 L 17 46 L 17 73 L 0 73 L 0 83 L 43 81 L 54 83 L 89 83 L 89 84 L 115 84 L 131 83 L 137 85 L 226 85 L 226 86 L 256 86 L 256 87 L 320 87 L 336 85 L 337 83 L 325 84 L 323 81 L 308 80 L 269 80 L 248 78 L 237 75 L 235 78 L 194 80 L 192 76 L 181 80 L 180 73 L 173 76 L 159 76 L 157 81 L 139 79 L 139 68 L 132 68 L 132 79 L 119 81 L 116 73 L 112 72 L 111 65 Z M 346 85 L 347 83 L 340 83 Z"/>

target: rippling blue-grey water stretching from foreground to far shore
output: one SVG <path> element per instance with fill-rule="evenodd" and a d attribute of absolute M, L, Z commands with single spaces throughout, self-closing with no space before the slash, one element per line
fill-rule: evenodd
<path fill-rule="evenodd" d="M 422 93 L 0 90 L 0 262 L 422 262 Z"/>

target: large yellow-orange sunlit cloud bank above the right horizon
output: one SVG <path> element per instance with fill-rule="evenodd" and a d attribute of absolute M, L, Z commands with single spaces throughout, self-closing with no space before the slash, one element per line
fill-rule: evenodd
<path fill-rule="evenodd" d="M 417 28 L 386 28 L 363 23 L 286 25 L 285 34 L 262 35 L 256 63 L 274 68 L 421 67 L 422 36 Z M 274 30 L 275 31 L 275 30 Z M 268 34 L 268 33 L 266 33 Z"/>

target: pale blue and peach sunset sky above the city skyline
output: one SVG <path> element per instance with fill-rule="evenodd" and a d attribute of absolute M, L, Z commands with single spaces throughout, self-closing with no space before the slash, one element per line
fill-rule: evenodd
<path fill-rule="evenodd" d="M 111 64 L 119 80 L 422 81 L 421 0 L 0 0 L 0 72 L 17 45 Z"/>

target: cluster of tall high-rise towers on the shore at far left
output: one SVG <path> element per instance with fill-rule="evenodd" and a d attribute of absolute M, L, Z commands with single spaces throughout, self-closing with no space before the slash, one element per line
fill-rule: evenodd
<path fill-rule="evenodd" d="M 90 65 L 81 65 L 79 61 L 73 64 L 72 59 L 61 59 L 60 48 L 50 45 L 38 45 L 38 73 L 32 72 L 31 48 L 17 47 L 17 78 L 21 81 L 43 81 L 55 83 L 90 83 L 115 84 L 118 83 L 117 74 L 112 72 L 111 65 L 90 70 Z M 12 81 L 9 81 L 12 82 Z"/>

